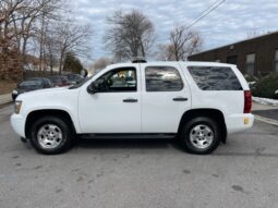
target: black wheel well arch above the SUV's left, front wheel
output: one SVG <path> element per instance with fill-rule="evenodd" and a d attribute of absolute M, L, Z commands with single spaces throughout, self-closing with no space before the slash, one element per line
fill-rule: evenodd
<path fill-rule="evenodd" d="M 64 120 L 71 127 L 72 130 L 74 131 L 75 133 L 75 127 L 74 127 L 74 124 L 72 122 L 72 119 L 70 117 L 70 114 L 64 111 L 64 110 L 52 110 L 52 109 L 49 109 L 49 110 L 36 110 L 36 111 L 32 111 L 28 115 L 27 115 L 27 119 L 26 119 L 26 125 L 25 125 L 25 135 L 26 137 L 28 138 L 29 137 L 29 129 L 31 126 L 33 125 L 33 123 L 41 118 L 41 117 L 57 117 L 59 119 L 62 119 Z"/>

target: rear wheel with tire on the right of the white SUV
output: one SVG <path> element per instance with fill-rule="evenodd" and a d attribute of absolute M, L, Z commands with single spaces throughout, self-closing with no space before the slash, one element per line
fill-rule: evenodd
<path fill-rule="evenodd" d="M 185 151 L 208 155 L 220 144 L 221 131 L 216 121 L 207 117 L 196 117 L 186 122 L 180 134 L 180 143 Z"/>

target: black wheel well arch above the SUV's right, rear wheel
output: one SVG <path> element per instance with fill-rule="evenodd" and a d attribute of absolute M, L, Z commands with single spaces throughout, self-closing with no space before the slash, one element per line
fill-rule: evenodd
<path fill-rule="evenodd" d="M 196 117 L 208 117 L 213 119 L 214 121 L 216 121 L 221 130 L 221 134 L 222 134 L 221 142 L 226 143 L 227 127 L 225 123 L 223 113 L 217 109 L 193 109 L 193 110 L 189 110 L 184 112 L 180 121 L 178 134 L 181 133 L 182 127 L 186 122 L 189 122 L 192 118 L 196 118 Z"/>

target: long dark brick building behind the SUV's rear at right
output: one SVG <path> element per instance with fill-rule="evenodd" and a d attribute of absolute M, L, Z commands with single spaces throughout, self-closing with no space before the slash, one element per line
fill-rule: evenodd
<path fill-rule="evenodd" d="M 232 63 L 254 76 L 278 73 L 278 32 L 203 51 L 189 60 Z"/>

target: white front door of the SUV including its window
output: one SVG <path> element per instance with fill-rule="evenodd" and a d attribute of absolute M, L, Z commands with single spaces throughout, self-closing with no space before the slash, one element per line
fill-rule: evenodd
<path fill-rule="evenodd" d="M 95 81 L 99 91 L 82 90 L 78 119 L 83 133 L 140 133 L 138 69 L 113 69 Z"/>

